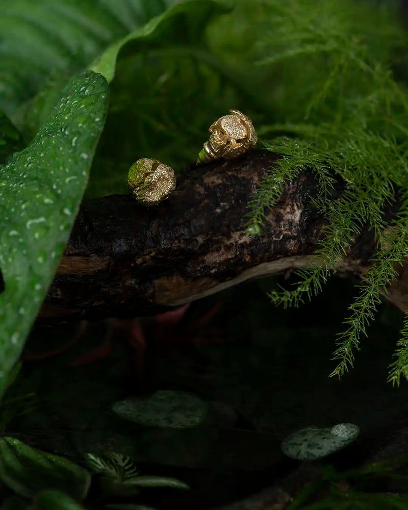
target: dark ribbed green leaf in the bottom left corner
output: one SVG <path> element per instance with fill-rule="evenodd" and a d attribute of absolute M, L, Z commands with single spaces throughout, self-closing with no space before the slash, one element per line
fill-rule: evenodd
<path fill-rule="evenodd" d="M 0 439 L 0 478 L 24 497 L 53 489 L 83 499 L 91 482 L 86 469 L 14 438 Z"/>

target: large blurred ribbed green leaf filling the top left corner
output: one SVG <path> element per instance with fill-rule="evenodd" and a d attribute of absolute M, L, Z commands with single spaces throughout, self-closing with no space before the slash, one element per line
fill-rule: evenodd
<path fill-rule="evenodd" d="M 2 2 L 0 109 L 13 113 L 53 71 L 78 72 L 113 41 L 180 0 Z"/>

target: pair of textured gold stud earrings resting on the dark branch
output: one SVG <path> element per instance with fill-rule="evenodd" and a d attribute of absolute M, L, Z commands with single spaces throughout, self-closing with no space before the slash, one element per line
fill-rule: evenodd
<path fill-rule="evenodd" d="M 249 117 L 239 110 L 230 110 L 209 127 L 210 139 L 199 152 L 197 164 L 219 158 L 234 159 L 258 141 Z M 127 184 L 143 206 L 157 206 L 175 188 L 174 170 L 158 160 L 142 158 L 134 163 L 127 175 Z"/>

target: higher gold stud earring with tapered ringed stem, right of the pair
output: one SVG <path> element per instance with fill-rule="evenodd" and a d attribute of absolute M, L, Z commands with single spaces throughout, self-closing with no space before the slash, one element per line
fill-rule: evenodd
<path fill-rule="evenodd" d="M 251 119 L 239 110 L 230 112 L 231 115 L 220 117 L 209 127 L 210 139 L 202 147 L 197 163 L 234 159 L 256 145 L 258 136 Z"/>

